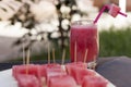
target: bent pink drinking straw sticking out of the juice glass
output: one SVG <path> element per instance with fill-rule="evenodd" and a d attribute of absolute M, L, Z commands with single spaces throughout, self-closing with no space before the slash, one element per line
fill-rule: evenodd
<path fill-rule="evenodd" d="M 100 12 L 98 13 L 98 15 L 96 16 L 96 18 L 95 18 L 95 21 L 94 21 L 94 24 L 97 23 L 97 21 L 99 20 L 102 13 L 103 13 L 106 9 L 109 10 L 109 9 L 110 9 L 110 4 L 104 5 L 104 8 L 100 10 Z M 124 13 L 122 13 L 122 12 L 118 12 L 118 13 L 121 14 L 121 15 L 123 15 L 123 16 L 126 16 L 126 17 L 128 16 L 127 14 L 124 14 Z"/>

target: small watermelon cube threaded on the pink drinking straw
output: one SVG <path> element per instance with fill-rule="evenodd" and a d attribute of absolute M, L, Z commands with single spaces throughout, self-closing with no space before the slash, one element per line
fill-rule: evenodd
<path fill-rule="evenodd" d="M 116 4 L 110 4 L 110 7 L 109 7 L 109 14 L 111 15 L 111 16 L 114 16 L 114 17 L 116 17 L 118 14 L 119 14 L 119 12 L 120 12 L 120 8 L 118 7 L 118 5 L 116 5 Z"/>

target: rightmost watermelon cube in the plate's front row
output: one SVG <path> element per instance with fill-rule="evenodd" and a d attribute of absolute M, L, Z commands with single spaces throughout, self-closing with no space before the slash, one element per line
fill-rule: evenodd
<path fill-rule="evenodd" d="M 82 87 L 107 87 L 108 82 L 100 76 L 85 76 Z"/>

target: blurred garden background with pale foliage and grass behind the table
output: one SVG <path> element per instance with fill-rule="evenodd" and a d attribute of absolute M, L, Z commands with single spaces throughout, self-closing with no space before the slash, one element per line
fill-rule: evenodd
<path fill-rule="evenodd" d="M 48 45 L 50 52 L 55 49 L 56 59 L 62 58 L 63 49 L 66 49 L 66 59 L 70 59 L 70 23 L 82 18 L 95 18 L 104 4 L 114 2 L 105 0 L 105 3 L 95 5 L 94 1 L 0 1 L 2 4 L 0 7 L 0 62 L 22 61 L 23 46 L 24 52 L 31 50 L 31 61 L 47 60 Z M 118 2 L 114 3 L 118 4 Z M 131 13 L 128 3 L 126 10 L 128 17 L 119 15 L 114 18 L 105 11 L 99 18 L 98 58 L 131 57 Z"/>

